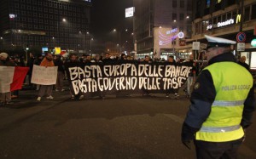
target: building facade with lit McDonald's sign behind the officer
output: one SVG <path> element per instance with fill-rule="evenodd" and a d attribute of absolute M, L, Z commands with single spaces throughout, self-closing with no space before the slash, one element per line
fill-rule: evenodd
<path fill-rule="evenodd" d="M 204 35 L 224 37 L 238 43 L 244 43 L 245 49 L 234 46 L 237 58 L 247 57 L 247 64 L 256 70 L 256 48 L 251 46 L 256 37 L 255 0 L 194 0 L 193 2 L 192 40 L 207 43 Z M 241 32 L 241 33 L 239 33 Z M 246 35 L 238 36 L 237 34 Z M 241 50 L 241 51 L 239 51 Z"/>

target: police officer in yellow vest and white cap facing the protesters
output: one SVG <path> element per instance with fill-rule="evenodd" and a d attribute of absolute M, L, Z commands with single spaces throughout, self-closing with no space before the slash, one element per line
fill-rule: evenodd
<path fill-rule="evenodd" d="M 195 82 L 182 142 L 190 149 L 194 140 L 197 158 L 236 158 L 255 109 L 253 77 L 230 53 L 236 42 L 205 37 L 208 66 Z"/>

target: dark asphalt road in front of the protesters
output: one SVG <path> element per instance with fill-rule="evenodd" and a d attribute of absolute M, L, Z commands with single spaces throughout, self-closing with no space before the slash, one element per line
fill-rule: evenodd
<path fill-rule="evenodd" d="M 170 159 L 195 158 L 180 141 L 189 99 L 164 94 L 69 99 L 68 91 L 38 102 L 20 91 L 0 108 L 0 158 Z M 239 158 L 256 158 L 256 120 L 247 128 Z"/>

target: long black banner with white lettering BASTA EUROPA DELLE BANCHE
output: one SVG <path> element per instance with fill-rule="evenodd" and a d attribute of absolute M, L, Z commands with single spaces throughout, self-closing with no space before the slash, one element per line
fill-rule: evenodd
<path fill-rule="evenodd" d="M 166 63 L 90 63 L 68 67 L 74 94 L 172 93 L 181 88 L 192 67 Z"/>

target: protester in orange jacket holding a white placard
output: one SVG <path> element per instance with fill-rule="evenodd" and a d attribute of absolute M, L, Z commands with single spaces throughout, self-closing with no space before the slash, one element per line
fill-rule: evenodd
<path fill-rule="evenodd" d="M 40 66 L 45 66 L 45 67 L 51 67 L 51 66 L 55 66 L 54 62 L 53 62 L 53 56 L 52 54 L 48 53 L 46 54 L 46 56 L 44 57 L 44 60 L 42 60 Z M 41 87 L 39 88 L 39 92 L 38 92 L 38 101 L 41 100 L 41 98 L 44 96 L 45 91 L 46 91 L 46 99 L 54 99 L 53 96 L 51 96 L 52 93 L 52 89 L 53 89 L 53 85 L 41 85 Z"/>

